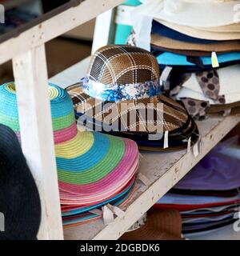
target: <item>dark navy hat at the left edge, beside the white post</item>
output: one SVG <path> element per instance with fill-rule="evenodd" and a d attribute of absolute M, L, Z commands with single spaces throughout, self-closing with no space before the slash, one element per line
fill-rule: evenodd
<path fill-rule="evenodd" d="M 38 188 L 14 131 L 0 124 L 0 240 L 35 240 L 41 222 Z M 3 228 L 3 230 L 2 230 Z"/>

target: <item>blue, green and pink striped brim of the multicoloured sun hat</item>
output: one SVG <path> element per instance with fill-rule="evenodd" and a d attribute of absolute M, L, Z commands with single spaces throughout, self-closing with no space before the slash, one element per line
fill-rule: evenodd
<path fill-rule="evenodd" d="M 58 170 L 60 198 L 66 205 L 101 202 L 122 190 L 138 170 L 139 156 L 135 142 L 126 138 L 114 138 L 107 134 L 93 134 L 95 142 L 90 146 L 90 150 L 86 151 L 86 154 L 74 159 L 62 159 L 69 164 L 73 161 L 76 167 L 82 167 L 81 170 Z M 84 140 L 86 137 L 84 133 L 79 133 L 78 136 L 80 135 Z M 102 138 L 105 138 L 106 142 L 102 143 Z M 112 146 L 108 146 L 108 141 Z M 101 142 L 100 147 L 98 142 Z M 117 146 L 119 143 L 120 149 Z M 106 144 L 106 150 L 104 150 L 104 144 Z M 101 150 L 102 154 L 99 154 L 101 158 L 98 159 L 96 152 Z M 120 154 L 116 155 L 116 152 L 119 153 L 118 151 Z M 58 169 L 62 168 L 62 162 L 57 161 L 57 163 Z"/>

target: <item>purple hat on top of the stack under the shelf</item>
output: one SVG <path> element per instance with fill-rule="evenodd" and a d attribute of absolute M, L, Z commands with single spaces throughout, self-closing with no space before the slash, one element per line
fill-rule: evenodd
<path fill-rule="evenodd" d="M 214 190 L 226 191 L 240 187 L 238 169 L 240 159 L 227 155 L 226 152 L 233 146 L 237 146 L 238 139 L 230 138 L 214 147 L 197 166 L 174 189 L 178 190 Z M 218 192 L 219 194 L 219 192 Z"/>

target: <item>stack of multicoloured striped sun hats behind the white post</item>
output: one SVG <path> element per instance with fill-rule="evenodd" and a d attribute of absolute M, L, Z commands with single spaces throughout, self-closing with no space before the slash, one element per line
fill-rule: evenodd
<path fill-rule="evenodd" d="M 66 91 L 50 84 L 49 95 L 63 224 L 101 218 L 102 206 L 119 206 L 132 194 L 138 146 L 126 138 L 78 131 Z M 0 86 L 0 98 L 0 123 L 20 138 L 14 82 Z"/>

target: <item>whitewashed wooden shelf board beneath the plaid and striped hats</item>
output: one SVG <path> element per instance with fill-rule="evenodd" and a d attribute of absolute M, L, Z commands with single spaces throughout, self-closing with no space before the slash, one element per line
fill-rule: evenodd
<path fill-rule="evenodd" d="M 50 82 L 65 88 L 78 82 L 86 74 L 90 58 L 54 76 Z M 172 153 L 141 152 L 139 172 L 150 180 L 151 185 L 145 186 L 137 181 L 134 197 L 126 208 L 123 219 L 116 218 L 114 223 L 104 226 L 102 220 L 90 224 L 76 226 L 64 230 L 65 239 L 118 239 L 138 220 L 155 202 L 170 188 L 183 178 L 234 126 L 240 122 L 240 117 L 212 116 L 198 122 L 202 134 L 201 152 L 197 158 L 186 150 Z"/>

